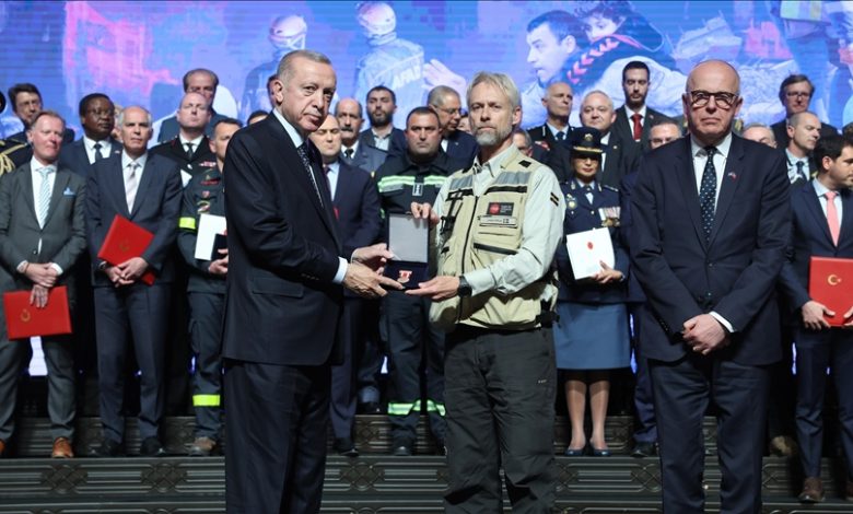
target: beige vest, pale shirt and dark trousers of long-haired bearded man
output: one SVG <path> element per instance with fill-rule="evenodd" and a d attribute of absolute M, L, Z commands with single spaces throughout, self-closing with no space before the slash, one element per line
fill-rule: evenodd
<path fill-rule="evenodd" d="M 513 512 L 556 498 L 553 255 L 565 207 L 547 166 L 510 145 L 454 173 L 434 212 L 437 274 L 459 294 L 433 302 L 446 339 L 445 512 L 500 512 L 500 467 Z M 432 257 L 432 256 L 431 256 Z"/>

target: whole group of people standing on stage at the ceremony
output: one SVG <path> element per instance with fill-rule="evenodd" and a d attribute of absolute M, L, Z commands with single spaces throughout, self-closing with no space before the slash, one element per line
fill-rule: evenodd
<path fill-rule="evenodd" d="M 125 454 L 137 371 L 140 453 L 165 455 L 166 384 L 191 370 L 189 454 L 219 452 L 227 424 L 235 512 L 318 509 L 327 425 L 334 451 L 357 456 L 357 412 L 387 414 L 396 456 L 412 455 L 429 416 L 448 458 L 448 512 L 498 512 L 500 467 L 513 505 L 545 512 L 556 390 L 571 424 L 564 454 L 606 457 L 614 371 L 633 354 L 632 455 L 659 455 L 665 509 L 702 512 L 710 405 L 724 510 L 760 511 L 763 448 L 798 455 L 799 499 L 822 501 L 828 367 L 853 499 L 853 384 L 836 373 L 853 360 L 853 306 L 831 312 L 808 289 L 811 257 L 853 258 L 853 136 L 808 110 L 807 77 L 782 82 L 785 118 L 764 126 L 737 117 L 748 98 L 736 70 L 706 61 L 673 119 L 646 105 L 650 69 L 630 61 L 624 105 L 556 81 L 540 100 L 547 121 L 530 130 L 501 73 L 435 86 L 409 113 L 385 85 L 332 107 L 331 63 L 297 50 L 267 81 L 273 108 L 246 124 L 213 112 L 218 82 L 188 71 L 151 148 L 144 107 L 89 94 L 74 140 L 34 84 L 9 90 L 25 130 L 0 147 L 0 289 L 44 306 L 67 285 L 74 326 L 42 339 L 54 457 L 75 454 L 86 378 L 103 437 L 85 452 Z M 227 220 L 227 246 L 207 259 L 203 214 Z M 431 226 L 429 279 L 405 266 L 382 274 L 392 214 Z M 107 262 L 117 215 L 153 238 Z M 566 235 L 593 229 L 606 229 L 614 262 L 583 274 Z M 0 330 L 2 456 L 30 347 Z"/>

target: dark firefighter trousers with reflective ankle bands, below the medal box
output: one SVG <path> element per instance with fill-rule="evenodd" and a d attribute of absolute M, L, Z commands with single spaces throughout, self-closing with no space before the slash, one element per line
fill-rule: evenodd
<path fill-rule="evenodd" d="M 384 299 L 382 326 L 388 343 L 388 420 L 397 444 L 413 444 L 418 416 L 423 407 L 430 430 L 444 441 L 444 332 L 430 324 L 430 301 L 390 291 Z M 420 372 L 426 379 L 425 406 L 421 402 Z"/>

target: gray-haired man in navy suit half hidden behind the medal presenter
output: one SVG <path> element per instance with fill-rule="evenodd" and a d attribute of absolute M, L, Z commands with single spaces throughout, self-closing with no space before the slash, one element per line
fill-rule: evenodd
<path fill-rule="evenodd" d="M 379 197 L 376 185 L 364 170 L 353 167 L 340 159 L 340 128 L 335 116 L 327 116 L 316 132 L 309 136 L 323 157 L 323 167 L 335 206 L 343 255 L 355 248 L 372 245 L 379 236 Z M 358 456 L 352 443 L 355 419 L 355 388 L 358 365 L 364 349 L 367 300 L 349 291 L 343 292 L 340 342 L 343 362 L 331 369 L 331 428 L 332 448 L 348 457 Z M 367 322 L 369 323 L 369 322 Z"/>

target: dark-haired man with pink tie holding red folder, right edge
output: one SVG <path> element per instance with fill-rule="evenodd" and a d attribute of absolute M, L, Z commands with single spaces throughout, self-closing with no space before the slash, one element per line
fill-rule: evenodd
<path fill-rule="evenodd" d="M 797 402 L 796 427 L 803 490 L 799 501 L 823 501 L 820 456 L 823 442 L 823 392 L 827 367 L 831 369 L 838 393 L 839 437 L 846 464 L 843 494 L 853 499 L 853 332 L 830 328 L 825 319 L 842 318 L 843 328 L 853 328 L 853 305 L 831 312 L 809 295 L 811 257 L 853 258 L 853 138 L 828 136 L 815 148 L 819 164 L 817 177 L 791 194 L 793 233 L 781 284 L 796 324 Z"/>

